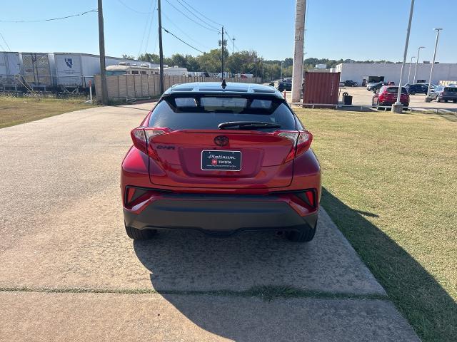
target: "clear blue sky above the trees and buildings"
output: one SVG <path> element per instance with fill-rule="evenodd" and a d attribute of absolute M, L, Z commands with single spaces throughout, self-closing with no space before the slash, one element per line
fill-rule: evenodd
<path fill-rule="evenodd" d="M 141 13 L 131 11 L 119 0 L 104 0 L 106 54 L 137 56 L 144 51 L 157 53 L 157 11 L 154 11 L 151 29 L 151 17 L 147 14 L 156 0 L 121 1 Z M 178 0 L 168 1 L 199 21 L 190 11 L 183 9 Z M 210 19 L 224 24 L 229 35 L 236 38 L 238 50 L 254 49 L 266 59 L 292 56 L 294 0 L 186 2 Z M 11 51 L 98 53 L 96 13 L 45 23 L 4 22 L 67 16 L 96 9 L 96 3 L 96 0 L 2 1 L 0 33 Z M 410 0 L 308 0 L 306 57 L 401 61 L 410 4 Z M 167 0 L 162 0 L 162 10 L 164 28 L 202 51 L 217 47 L 218 33 L 194 24 Z M 435 39 L 433 28 L 441 27 L 444 30 L 440 36 L 437 61 L 457 63 L 456 19 L 456 0 L 416 0 L 408 56 L 416 55 L 417 47 L 423 45 L 426 49 L 421 51 L 421 61 L 431 60 Z M 7 49 L 1 37 L 0 44 Z M 173 53 L 199 54 L 164 33 L 164 54 L 171 56 Z"/>

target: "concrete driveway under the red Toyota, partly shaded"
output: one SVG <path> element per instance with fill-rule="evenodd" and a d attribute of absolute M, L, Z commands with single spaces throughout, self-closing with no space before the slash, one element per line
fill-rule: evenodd
<path fill-rule="evenodd" d="M 126 237 L 119 166 L 149 108 L 0 130 L 2 340 L 418 341 L 324 211 L 309 244 Z"/>

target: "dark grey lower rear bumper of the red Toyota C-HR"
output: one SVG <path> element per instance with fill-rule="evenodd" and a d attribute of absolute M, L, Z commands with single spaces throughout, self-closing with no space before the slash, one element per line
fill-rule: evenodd
<path fill-rule="evenodd" d="M 215 236 L 229 236 L 241 231 L 315 228 L 317 209 L 297 202 L 293 202 L 290 194 L 162 194 L 144 204 L 141 210 L 124 207 L 124 219 L 126 226 L 136 229 L 194 229 Z"/>

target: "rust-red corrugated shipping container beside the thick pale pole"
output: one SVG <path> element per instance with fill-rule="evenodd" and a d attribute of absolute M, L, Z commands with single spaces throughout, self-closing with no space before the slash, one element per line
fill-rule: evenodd
<path fill-rule="evenodd" d="M 338 104 L 340 73 L 305 73 L 303 104 Z"/>

